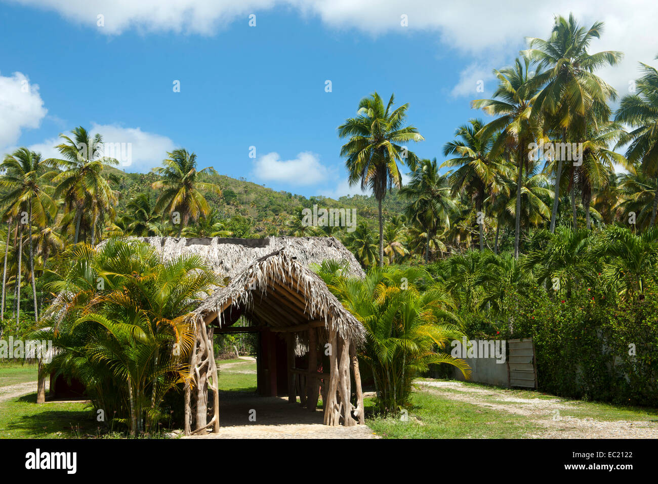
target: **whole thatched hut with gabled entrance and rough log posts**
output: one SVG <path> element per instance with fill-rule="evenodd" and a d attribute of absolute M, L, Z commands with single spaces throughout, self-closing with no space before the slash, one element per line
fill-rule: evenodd
<path fill-rule="evenodd" d="M 213 336 L 238 331 L 259 335 L 260 394 L 287 394 L 291 403 L 299 396 L 301 405 L 311 412 L 322 394 L 326 425 L 363 423 L 356 349 L 365 340 L 365 330 L 309 269 L 311 263 L 326 259 L 346 260 L 350 276 L 364 277 L 355 257 L 336 238 L 143 240 L 158 248 L 165 260 L 199 254 L 230 280 L 190 315 L 197 342 L 190 354 L 192 382 L 185 392 L 186 435 L 210 427 L 219 431 Z M 251 327 L 232 327 L 240 317 L 250 321 Z M 351 402 L 353 394 L 356 404 Z"/>

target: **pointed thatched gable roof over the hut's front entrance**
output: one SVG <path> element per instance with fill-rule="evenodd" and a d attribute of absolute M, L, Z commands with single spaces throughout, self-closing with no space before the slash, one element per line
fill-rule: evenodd
<path fill-rule="evenodd" d="M 336 329 L 357 344 L 365 340 L 363 325 L 288 248 L 243 269 L 228 286 L 206 298 L 193 315 L 197 321 L 216 321 L 220 327 L 232 324 L 240 315 L 279 328 L 322 321 L 327 331 Z"/>

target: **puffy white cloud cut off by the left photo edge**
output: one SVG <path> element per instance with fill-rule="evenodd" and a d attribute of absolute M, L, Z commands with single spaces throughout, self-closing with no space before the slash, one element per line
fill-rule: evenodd
<path fill-rule="evenodd" d="M 25 128 L 38 128 L 47 112 L 39 86 L 25 74 L 0 76 L 0 149 L 16 144 Z"/>

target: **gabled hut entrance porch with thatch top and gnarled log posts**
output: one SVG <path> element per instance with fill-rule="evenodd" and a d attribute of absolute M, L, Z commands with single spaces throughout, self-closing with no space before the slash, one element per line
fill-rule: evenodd
<path fill-rule="evenodd" d="M 232 327 L 241 317 L 251 327 Z M 365 330 L 320 277 L 284 251 L 259 259 L 218 289 L 194 311 L 193 321 L 197 341 L 190 355 L 193 378 L 186 386 L 186 435 L 210 427 L 219 432 L 221 375 L 213 337 L 241 331 L 259 335 L 259 395 L 287 396 L 309 412 L 318 410 L 321 395 L 325 425 L 364 423 L 356 350 Z"/>

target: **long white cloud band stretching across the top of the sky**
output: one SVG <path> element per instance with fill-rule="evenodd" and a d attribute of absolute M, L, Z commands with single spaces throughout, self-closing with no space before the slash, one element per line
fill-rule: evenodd
<path fill-rule="evenodd" d="M 524 48 L 525 36 L 548 36 L 554 14 L 573 12 L 582 24 L 605 22 L 602 40 L 591 51 L 614 49 L 625 53 L 619 67 L 602 70 L 620 94 L 638 76 L 638 61 L 649 63 L 658 53 L 655 44 L 655 0 L 527 0 L 459 1 L 436 0 L 13 0 L 23 5 L 57 11 L 69 20 L 86 24 L 103 34 L 126 30 L 213 34 L 231 22 L 276 6 L 292 7 L 303 16 L 318 16 L 326 26 L 354 29 L 378 35 L 386 32 L 436 32 L 445 47 L 468 55 L 474 66 L 461 72 L 453 95 L 468 95 L 475 75 L 490 74 L 492 59 L 510 59 Z M 103 14 L 105 26 L 97 26 Z M 401 26 L 401 15 L 408 26 Z M 258 23 L 257 23 L 258 24 Z M 493 66 L 501 67 L 501 66 Z"/>

